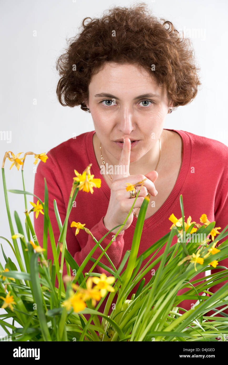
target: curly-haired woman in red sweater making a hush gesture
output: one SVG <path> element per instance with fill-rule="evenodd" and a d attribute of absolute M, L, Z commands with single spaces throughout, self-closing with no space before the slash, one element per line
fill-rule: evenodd
<path fill-rule="evenodd" d="M 89 111 L 95 130 L 62 142 L 47 153 L 48 160 L 37 168 L 34 194 L 44 201 L 45 177 L 49 215 L 57 242 L 59 229 L 53 200 L 56 199 L 64 222 L 74 170 L 82 173 L 92 163 L 91 174 L 101 179 L 101 188 L 95 188 L 92 195 L 79 192 L 66 236 L 68 250 L 79 265 L 95 243 L 84 230 L 75 235 L 71 222 L 85 223 L 97 240 L 112 230 L 102 247 L 113 239 L 107 254 L 118 268 L 126 250 L 131 249 L 137 214 L 148 192 L 151 198 L 138 255 L 168 233 L 172 214 L 181 217 L 180 194 L 186 220 L 191 216 L 192 221 L 200 223 L 205 213 L 210 222 L 216 220 L 216 227 L 223 229 L 228 224 L 228 147 L 187 131 L 163 128 L 166 115 L 179 105 L 190 103 L 201 84 L 190 42 L 180 37 L 171 22 L 161 22 L 150 15 L 146 6 L 114 7 L 101 19 L 89 18 L 87 24 L 87 18 L 84 19 L 83 30 L 57 61 L 61 76 L 58 100 L 62 105 L 81 105 L 82 110 Z M 103 163 L 108 166 L 109 174 L 103 173 Z M 118 173 L 117 166 L 122 167 Z M 134 212 L 115 237 L 119 228 L 113 228 L 123 223 L 136 195 L 136 191 L 126 191 L 126 183 L 138 183 L 139 189 L 139 182 L 144 179 Z M 43 216 L 34 220 L 38 241 L 42 242 Z M 153 260 L 163 251 L 164 247 Z M 98 258 L 100 253 L 96 249 L 93 257 Z M 53 260 L 49 237 L 48 258 Z M 110 267 L 104 256 L 101 262 Z M 221 262 L 227 264 L 228 260 Z M 92 265 L 89 261 L 83 273 Z M 155 274 L 158 266 L 154 267 Z M 110 275 L 100 266 L 93 271 Z M 145 276 L 146 283 L 151 274 Z M 203 280 L 204 276 L 204 272 L 199 273 L 194 280 Z M 218 288 L 216 285 L 210 290 Z M 185 300 L 179 306 L 189 310 L 195 301 Z M 100 311 L 105 303 L 106 300 Z"/>

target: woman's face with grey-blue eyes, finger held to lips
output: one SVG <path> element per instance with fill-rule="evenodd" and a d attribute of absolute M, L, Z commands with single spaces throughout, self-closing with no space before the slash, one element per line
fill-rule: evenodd
<path fill-rule="evenodd" d="M 115 141 L 123 142 L 123 137 L 138 141 L 132 145 L 130 162 L 153 149 L 162 133 L 168 105 L 172 106 L 166 89 L 158 87 L 139 66 L 106 62 L 91 78 L 87 107 L 102 149 L 117 160 L 122 147 Z"/>

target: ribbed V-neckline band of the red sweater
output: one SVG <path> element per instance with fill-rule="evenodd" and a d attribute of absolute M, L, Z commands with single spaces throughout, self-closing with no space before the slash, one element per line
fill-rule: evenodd
<path fill-rule="evenodd" d="M 170 128 L 163 128 L 169 131 L 177 132 L 183 141 L 183 155 L 182 155 L 182 165 L 179 171 L 178 178 L 176 180 L 176 183 L 174 185 L 174 188 L 172 189 L 170 195 L 166 199 L 166 201 L 161 205 L 159 210 L 155 212 L 152 216 L 145 219 L 143 230 L 148 228 L 148 226 L 151 226 L 155 224 L 160 218 L 164 216 L 164 214 L 167 212 L 167 210 L 171 207 L 171 205 L 174 203 L 175 199 L 180 193 L 180 189 L 183 186 L 183 183 L 186 179 L 187 172 L 189 170 L 190 160 L 191 160 L 191 142 L 190 137 L 186 133 L 186 131 L 183 130 L 176 130 L 176 129 L 170 129 Z M 107 185 L 106 181 L 103 178 L 103 175 L 100 174 L 100 168 L 98 166 L 98 162 L 96 161 L 96 156 L 94 152 L 94 146 L 93 146 L 93 135 L 95 133 L 94 131 L 90 131 L 86 134 L 86 149 L 88 154 L 88 160 L 90 163 L 92 163 L 91 166 L 91 174 L 94 174 L 94 178 L 100 178 L 101 179 L 101 189 L 106 195 L 107 199 L 110 200 L 110 193 L 111 190 L 109 186 Z M 133 217 L 132 225 L 136 226 L 137 218 Z"/>

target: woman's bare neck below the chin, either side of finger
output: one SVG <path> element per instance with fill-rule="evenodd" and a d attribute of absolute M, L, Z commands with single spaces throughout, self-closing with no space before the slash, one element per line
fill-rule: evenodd
<path fill-rule="evenodd" d="M 164 132 L 164 130 L 163 130 Z M 159 154 L 160 154 L 160 146 L 159 146 L 159 139 L 157 139 L 156 143 L 154 144 L 153 148 L 150 149 L 147 153 L 145 153 L 141 158 L 139 158 L 137 161 L 130 162 L 129 165 L 129 173 L 130 175 L 137 175 L 142 174 L 145 175 L 146 173 L 155 170 L 157 166 L 157 170 L 159 172 L 159 166 L 161 166 L 161 157 L 162 157 L 162 146 L 164 141 L 164 134 L 163 132 L 160 135 L 160 141 L 161 141 L 161 155 L 160 155 L 160 161 L 157 165 L 157 162 L 159 160 Z M 100 141 L 98 137 L 96 136 L 96 133 L 94 133 L 94 137 L 96 139 L 96 146 L 97 146 L 97 160 L 99 166 L 102 165 L 102 160 L 100 158 Z M 102 141 L 101 141 L 102 142 Z M 119 160 L 117 160 L 113 155 L 107 151 L 104 146 L 102 145 L 102 156 L 105 161 L 105 164 L 108 165 L 118 165 Z M 111 177 L 113 177 L 111 175 Z"/>

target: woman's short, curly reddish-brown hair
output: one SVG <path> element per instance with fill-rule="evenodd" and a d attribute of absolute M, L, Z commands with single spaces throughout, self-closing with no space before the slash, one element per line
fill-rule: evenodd
<path fill-rule="evenodd" d="M 61 105 L 81 105 L 87 111 L 84 101 L 91 77 L 105 62 L 141 65 L 159 86 L 166 87 L 174 108 L 194 99 L 201 82 L 190 39 L 181 38 L 169 20 L 151 15 L 147 6 L 115 6 L 104 11 L 102 18 L 83 19 L 83 30 L 66 40 L 69 47 L 56 62 L 61 76 L 56 93 Z"/>

